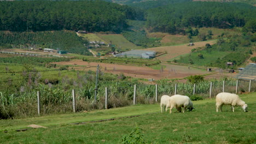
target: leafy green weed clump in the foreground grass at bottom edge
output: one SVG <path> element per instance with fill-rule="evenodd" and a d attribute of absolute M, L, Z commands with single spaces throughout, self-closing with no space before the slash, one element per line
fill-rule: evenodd
<path fill-rule="evenodd" d="M 136 127 L 135 129 L 132 130 L 131 134 L 123 137 L 122 143 L 124 143 L 124 144 L 146 144 L 147 142 L 144 140 L 144 135 L 142 134 L 142 129 Z"/>

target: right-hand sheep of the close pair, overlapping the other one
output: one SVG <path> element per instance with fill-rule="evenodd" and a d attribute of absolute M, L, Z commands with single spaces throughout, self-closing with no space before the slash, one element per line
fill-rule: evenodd
<path fill-rule="evenodd" d="M 169 104 L 170 105 L 170 113 L 172 113 L 172 109 L 173 107 L 176 107 L 176 109 L 181 112 L 182 108 L 183 108 L 183 112 L 187 111 L 187 109 L 189 109 L 189 111 L 192 111 L 193 109 L 195 109 L 193 107 L 193 103 L 190 100 L 190 98 L 188 96 L 185 95 L 173 95 L 170 99 L 169 99 Z"/>

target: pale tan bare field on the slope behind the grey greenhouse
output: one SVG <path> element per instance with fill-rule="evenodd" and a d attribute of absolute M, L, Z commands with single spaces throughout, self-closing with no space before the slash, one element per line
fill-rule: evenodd
<path fill-rule="evenodd" d="M 182 45 L 176 45 L 176 46 L 163 46 L 163 47 L 152 47 L 148 49 L 143 50 L 150 50 L 150 51 L 156 51 L 156 52 L 166 52 L 165 55 L 156 57 L 160 61 L 170 61 L 170 59 L 178 57 L 180 55 L 184 55 L 187 53 L 190 53 L 192 49 L 195 49 L 196 47 L 202 47 L 206 44 L 213 45 L 216 43 L 217 40 L 208 40 L 208 41 L 200 41 L 194 43 L 194 46 L 188 46 L 188 44 L 182 44 Z"/>

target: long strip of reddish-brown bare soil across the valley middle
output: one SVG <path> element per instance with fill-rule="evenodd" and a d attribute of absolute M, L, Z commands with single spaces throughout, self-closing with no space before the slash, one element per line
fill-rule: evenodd
<path fill-rule="evenodd" d="M 108 63 L 96 63 L 96 62 L 84 62 L 82 60 L 74 60 L 70 62 L 57 62 L 56 64 L 62 65 L 86 65 L 94 68 L 91 70 L 96 70 L 95 66 L 100 65 L 101 70 L 106 73 L 112 74 L 124 74 L 125 76 L 143 78 L 143 79 L 155 79 L 160 80 L 163 78 L 166 79 L 181 79 L 189 75 L 199 75 L 199 74 L 212 74 L 203 69 L 197 69 L 183 65 L 173 65 L 173 64 L 164 64 L 166 68 L 164 71 L 155 70 L 149 67 L 137 67 L 132 65 L 119 65 L 119 64 L 108 64 Z M 88 69 L 87 69 L 88 70 Z"/>

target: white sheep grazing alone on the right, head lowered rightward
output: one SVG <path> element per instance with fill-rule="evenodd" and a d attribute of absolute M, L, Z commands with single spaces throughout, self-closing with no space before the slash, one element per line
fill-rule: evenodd
<path fill-rule="evenodd" d="M 248 106 L 245 101 L 242 101 L 238 95 L 233 93 L 219 93 L 216 95 L 216 112 L 220 108 L 222 111 L 223 105 L 231 105 L 231 110 L 235 112 L 234 106 L 241 106 L 243 111 L 248 111 Z"/>

